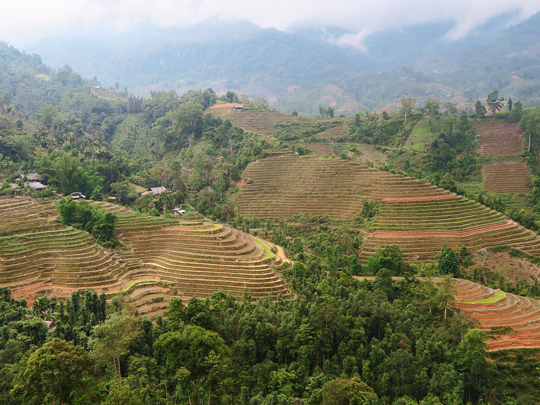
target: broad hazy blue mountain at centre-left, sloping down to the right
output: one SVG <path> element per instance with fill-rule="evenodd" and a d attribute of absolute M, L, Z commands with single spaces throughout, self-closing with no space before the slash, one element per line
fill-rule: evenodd
<path fill-rule="evenodd" d="M 107 85 L 119 82 L 130 89 L 153 85 L 182 90 L 208 87 L 218 81 L 227 88 L 256 83 L 282 93 L 289 86 L 309 89 L 328 78 L 346 78 L 376 69 L 374 61 L 361 51 L 339 48 L 324 40 L 275 29 L 241 31 L 232 36 L 232 29 L 228 27 L 224 35 L 215 30 L 211 40 L 185 42 L 181 37 L 165 37 L 160 43 L 129 47 L 60 38 L 41 42 L 44 51 L 39 52 L 45 60 L 54 54 L 58 60 L 58 54 L 64 54 L 64 63 L 82 75 L 97 76 Z"/>

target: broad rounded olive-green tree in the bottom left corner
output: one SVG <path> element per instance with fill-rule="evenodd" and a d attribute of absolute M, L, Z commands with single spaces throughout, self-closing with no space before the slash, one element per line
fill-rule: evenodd
<path fill-rule="evenodd" d="M 30 355 L 12 395 L 31 403 L 62 405 L 75 389 L 84 391 L 90 369 L 91 361 L 83 347 L 54 338 Z"/>

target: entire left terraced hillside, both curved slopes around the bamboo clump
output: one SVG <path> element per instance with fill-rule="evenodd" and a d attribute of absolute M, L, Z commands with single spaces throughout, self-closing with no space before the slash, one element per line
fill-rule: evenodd
<path fill-rule="evenodd" d="M 62 226 L 52 200 L 0 198 L 0 221 L 8 224 L 0 235 L 0 285 L 29 300 L 44 290 L 65 296 L 80 288 L 107 294 L 124 289 L 140 314 L 152 316 L 173 296 L 203 298 L 219 289 L 253 298 L 288 294 L 270 267 L 281 258 L 250 235 L 213 222 L 145 217 L 96 204 L 119 215 L 124 248 L 118 253 Z"/>

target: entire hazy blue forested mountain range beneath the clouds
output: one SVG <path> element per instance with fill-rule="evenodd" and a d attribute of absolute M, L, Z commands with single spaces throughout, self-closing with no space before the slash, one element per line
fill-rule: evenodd
<path fill-rule="evenodd" d="M 190 29 L 143 24 L 112 38 L 43 39 L 28 51 L 52 67 L 68 64 L 136 95 L 212 87 L 264 96 L 284 111 L 305 114 L 318 105 L 346 114 L 375 110 L 406 95 L 474 104 L 493 89 L 535 105 L 540 14 L 505 29 L 511 18 L 498 16 L 453 42 L 445 38 L 450 22 L 375 33 L 364 41 L 367 51 L 330 44 L 342 29 L 287 33 L 247 22 Z"/>

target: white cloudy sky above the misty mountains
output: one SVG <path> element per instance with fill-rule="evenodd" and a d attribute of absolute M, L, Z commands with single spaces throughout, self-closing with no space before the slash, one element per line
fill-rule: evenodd
<path fill-rule="evenodd" d="M 0 40 L 15 46 L 65 30 L 129 31 L 141 22 L 189 26 L 207 18 L 246 19 L 262 28 L 339 27 L 332 38 L 362 47 L 367 35 L 420 23 L 452 21 L 448 39 L 459 39 L 490 18 L 512 12 L 517 23 L 538 10 L 538 0 L 0 0 Z"/>

